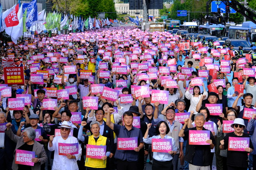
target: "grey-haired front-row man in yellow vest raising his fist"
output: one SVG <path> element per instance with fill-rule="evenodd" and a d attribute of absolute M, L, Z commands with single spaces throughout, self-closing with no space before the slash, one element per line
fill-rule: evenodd
<path fill-rule="evenodd" d="M 87 125 L 85 121 L 81 122 L 79 129 L 78 138 L 84 142 L 84 144 L 92 144 L 98 146 L 107 146 L 106 155 L 102 156 L 101 159 L 86 158 L 85 167 L 87 170 L 104 170 L 107 167 L 107 157 L 110 155 L 110 143 L 108 138 L 102 136 L 99 133 L 100 125 L 99 122 L 93 121 L 90 123 L 90 130 L 93 133 L 91 136 L 83 136 L 83 127 Z"/>

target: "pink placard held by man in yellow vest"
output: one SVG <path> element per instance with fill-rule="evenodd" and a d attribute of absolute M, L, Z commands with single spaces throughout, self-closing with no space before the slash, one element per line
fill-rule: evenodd
<path fill-rule="evenodd" d="M 102 159 L 106 155 L 106 145 L 86 144 L 86 158 Z"/>

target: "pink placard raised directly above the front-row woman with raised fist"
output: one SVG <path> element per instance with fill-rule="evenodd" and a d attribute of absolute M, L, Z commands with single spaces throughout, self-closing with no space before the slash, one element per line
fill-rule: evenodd
<path fill-rule="evenodd" d="M 168 104 L 169 91 L 152 90 L 151 103 L 160 102 L 160 104 Z"/>

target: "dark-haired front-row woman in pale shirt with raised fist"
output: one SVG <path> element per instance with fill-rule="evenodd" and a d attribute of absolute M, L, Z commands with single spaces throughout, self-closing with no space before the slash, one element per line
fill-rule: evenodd
<path fill-rule="evenodd" d="M 153 154 L 153 165 L 152 165 L 152 170 L 173 170 L 173 164 L 172 164 L 172 159 L 173 156 L 176 154 L 177 147 L 175 145 L 175 140 L 171 137 L 168 136 L 167 134 L 170 131 L 170 128 L 168 124 L 165 121 L 161 121 L 157 124 L 156 127 L 156 132 L 157 136 L 152 136 L 148 137 L 148 132 L 151 127 L 151 123 L 148 123 L 148 128 L 147 131 L 143 137 L 143 142 L 147 144 L 152 144 L 152 139 L 172 139 L 172 150 L 158 150 L 154 152 L 154 146 L 152 144 L 152 151 L 154 152 Z M 160 140 L 161 141 L 161 140 Z M 161 143 L 161 142 L 159 142 Z M 164 142 L 162 142 L 164 143 Z M 161 146 L 160 146 L 161 147 Z M 164 146 L 163 146 L 164 147 Z M 166 148 L 166 147 L 164 147 Z"/>

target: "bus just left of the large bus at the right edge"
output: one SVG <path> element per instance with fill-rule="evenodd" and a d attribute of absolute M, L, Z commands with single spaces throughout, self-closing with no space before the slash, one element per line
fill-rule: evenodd
<path fill-rule="evenodd" d="M 222 24 L 212 24 L 206 23 L 199 26 L 199 34 L 212 35 L 216 37 L 226 36 L 225 26 Z"/>

